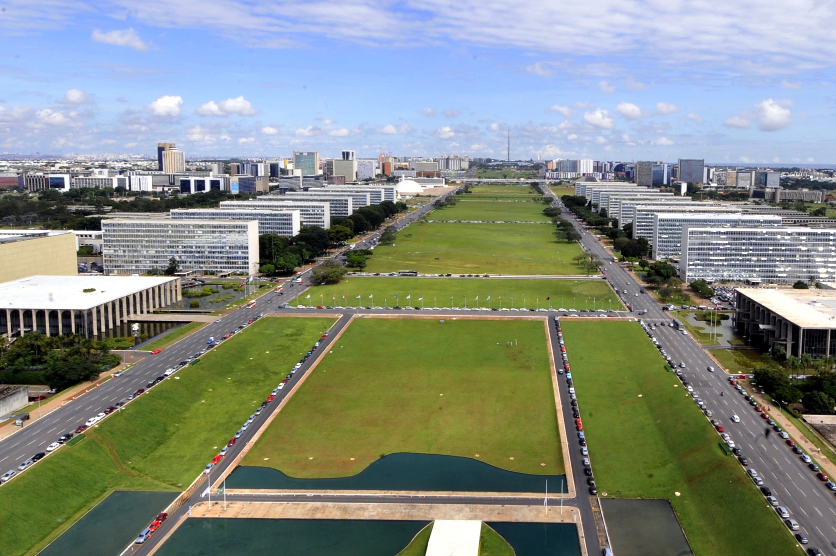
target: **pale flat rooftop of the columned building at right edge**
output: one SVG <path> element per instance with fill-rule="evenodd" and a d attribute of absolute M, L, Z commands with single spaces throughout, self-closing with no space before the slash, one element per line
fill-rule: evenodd
<path fill-rule="evenodd" d="M 836 291 L 738 288 L 769 311 L 802 328 L 836 328 Z"/>

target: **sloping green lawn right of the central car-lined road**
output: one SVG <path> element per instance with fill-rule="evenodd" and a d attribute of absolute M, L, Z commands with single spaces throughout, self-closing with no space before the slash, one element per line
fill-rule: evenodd
<path fill-rule="evenodd" d="M 568 321 L 563 336 L 599 493 L 669 498 L 700 556 L 798 553 L 637 324 Z"/>

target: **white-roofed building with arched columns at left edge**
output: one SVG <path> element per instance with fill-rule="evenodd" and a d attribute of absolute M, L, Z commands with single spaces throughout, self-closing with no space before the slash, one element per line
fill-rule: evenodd
<path fill-rule="evenodd" d="M 171 276 L 29 276 L 0 284 L 0 336 L 107 336 L 181 300 Z"/>

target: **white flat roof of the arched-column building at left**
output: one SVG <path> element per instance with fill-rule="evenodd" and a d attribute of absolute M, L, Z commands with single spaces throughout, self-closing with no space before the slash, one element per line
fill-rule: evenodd
<path fill-rule="evenodd" d="M 174 276 L 43 276 L 0 284 L 0 310 L 84 311 L 177 280 Z M 94 288 L 94 291 L 84 291 Z"/>

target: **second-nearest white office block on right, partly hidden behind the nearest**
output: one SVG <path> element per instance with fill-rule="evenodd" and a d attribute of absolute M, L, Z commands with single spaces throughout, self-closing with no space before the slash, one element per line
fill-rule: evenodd
<path fill-rule="evenodd" d="M 670 212 L 654 215 L 653 258 L 655 260 L 679 259 L 682 251 L 682 230 L 690 226 L 780 226 L 781 216 L 752 215 L 741 212 L 731 214 L 694 214 Z"/>

